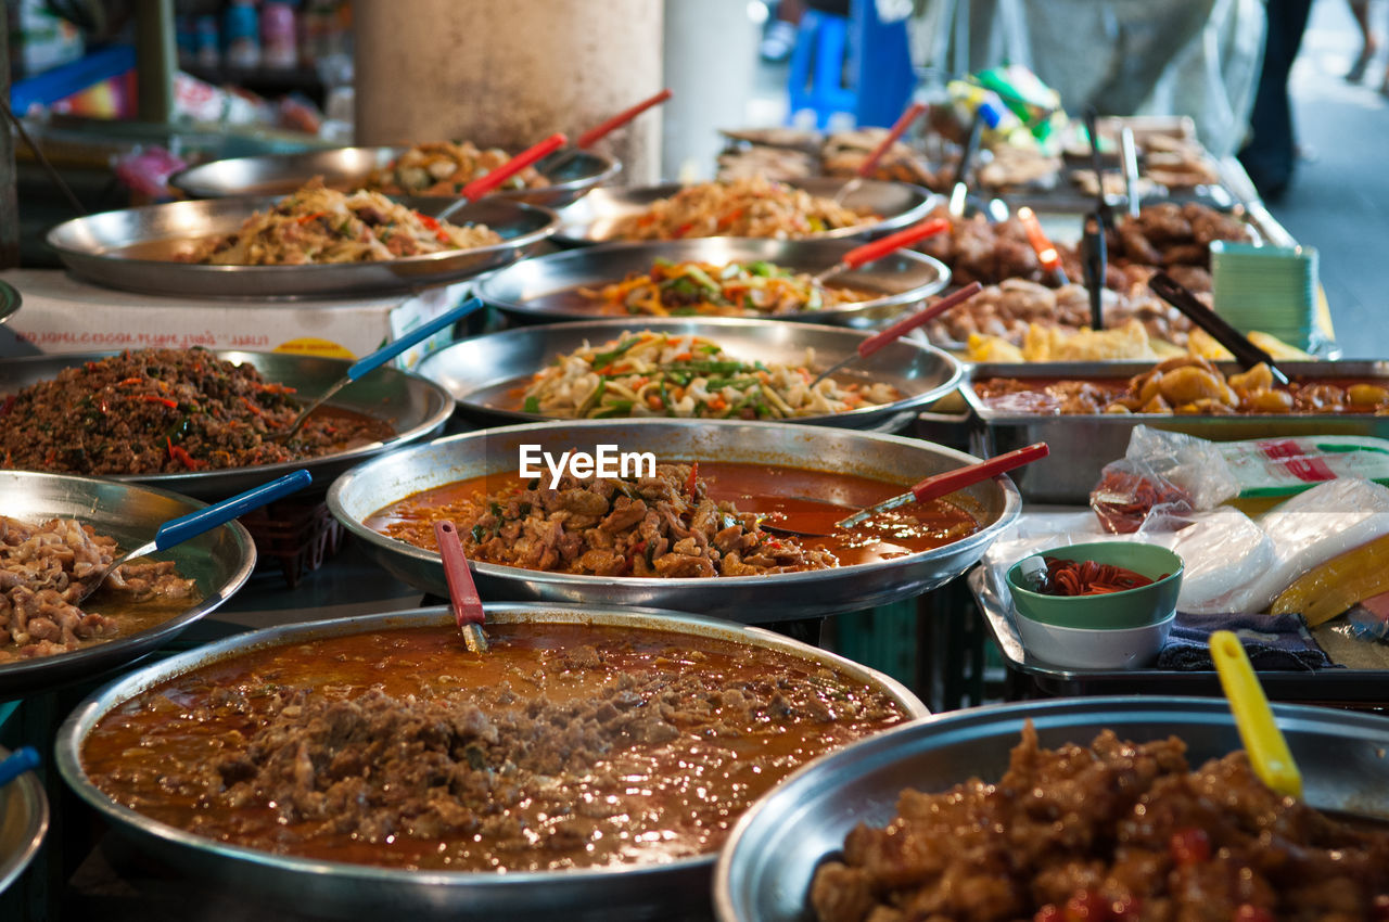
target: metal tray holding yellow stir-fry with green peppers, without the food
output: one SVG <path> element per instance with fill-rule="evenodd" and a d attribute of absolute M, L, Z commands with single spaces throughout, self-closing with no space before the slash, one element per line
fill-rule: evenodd
<path fill-rule="evenodd" d="M 608 243 L 592 249 L 550 253 L 524 260 L 489 275 L 478 285 L 478 296 L 503 312 L 524 321 L 597 319 L 592 303 L 574 289 L 621 282 L 629 274 L 649 272 L 656 260 L 686 262 L 747 262 L 764 260 L 797 272 L 820 272 L 835 265 L 858 246 L 854 240 L 761 240 L 757 237 L 700 237 L 696 240 L 654 240 Z M 836 310 L 775 314 L 749 319 L 801 321 L 836 326 L 872 326 L 931 297 L 950 282 L 950 269 L 936 258 L 915 250 L 899 250 L 875 262 L 835 276 L 849 287 L 881 293 L 868 301 Z M 699 319 L 699 318 L 686 318 Z"/>

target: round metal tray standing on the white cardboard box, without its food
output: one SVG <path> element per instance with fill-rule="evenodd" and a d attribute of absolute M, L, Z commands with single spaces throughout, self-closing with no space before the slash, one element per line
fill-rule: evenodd
<path fill-rule="evenodd" d="M 506 199 L 467 206 L 454 224 L 485 224 L 504 239 L 471 250 L 449 250 L 379 262 L 315 265 L 201 265 L 176 255 L 208 236 L 231 233 L 278 197 L 175 201 L 103 211 L 65 221 L 47 242 L 74 275 L 108 287 L 179 297 L 300 299 L 338 294 L 413 292 L 456 282 L 513 262 L 554 233 L 558 218 L 547 208 Z M 435 214 L 453 199 L 400 199 L 408 208 Z"/>

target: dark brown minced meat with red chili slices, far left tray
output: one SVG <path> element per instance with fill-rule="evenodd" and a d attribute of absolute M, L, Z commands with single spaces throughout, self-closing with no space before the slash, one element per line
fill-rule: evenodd
<path fill-rule="evenodd" d="M 315 412 L 286 443 L 294 389 L 204 349 L 126 351 L 67 368 L 0 403 L 0 468 L 182 473 L 313 458 L 394 435 L 389 424 Z"/>

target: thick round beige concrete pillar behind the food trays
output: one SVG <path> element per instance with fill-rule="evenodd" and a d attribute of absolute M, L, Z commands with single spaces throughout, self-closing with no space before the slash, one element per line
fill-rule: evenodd
<path fill-rule="evenodd" d="M 354 0 L 357 143 L 569 137 L 661 89 L 654 0 Z M 660 175 L 660 110 L 599 142 Z"/>

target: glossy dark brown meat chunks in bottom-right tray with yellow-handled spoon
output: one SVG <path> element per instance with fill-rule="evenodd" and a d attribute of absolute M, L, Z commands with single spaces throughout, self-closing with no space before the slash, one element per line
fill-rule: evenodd
<path fill-rule="evenodd" d="M 1389 918 L 1389 833 L 1275 794 L 1232 753 L 1175 739 L 1038 747 L 997 785 L 903 791 L 820 868 L 821 922 L 1365 922 Z"/>

